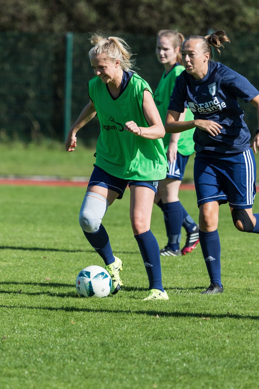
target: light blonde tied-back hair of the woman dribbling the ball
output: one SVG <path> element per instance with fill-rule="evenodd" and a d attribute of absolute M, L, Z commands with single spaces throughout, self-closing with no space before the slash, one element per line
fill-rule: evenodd
<path fill-rule="evenodd" d="M 132 53 L 129 45 L 119 37 L 106 37 L 101 33 L 92 33 L 90 42 L 94 46 L 89 51 L 89 57 L 99 54 L 106 54 L 111 62 L 120 60 L 120 67 L 126 72 L 132 71 L 135 67 L 135 60 L 131 58 Z"/>

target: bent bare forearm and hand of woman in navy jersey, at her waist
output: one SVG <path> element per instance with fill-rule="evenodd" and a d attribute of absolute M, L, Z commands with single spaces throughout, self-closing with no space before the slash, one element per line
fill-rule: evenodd
<path fill-rule="evenodd" d="M 215 137 L 220 134 L 222 128 L 220 124 L 212 120 L 195 119 L 190 121 L 179 121 L 180 112 L 167 110 L 165 117 L 165 132 L 177 133 L 190 130 L 193 127 L 198 127 L 200 130 L 207 131 L 210 135 Z"/>

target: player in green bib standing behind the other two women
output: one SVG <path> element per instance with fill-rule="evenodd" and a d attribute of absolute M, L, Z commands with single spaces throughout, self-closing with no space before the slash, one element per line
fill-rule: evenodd
<path fill-rule="evenodd" d="M 160 117 L 165 123 L 170 96 L 176 77 L 184 70 L 181 59 L 181 45 L 184 37 L 173 30 L 160 30 L 156 37 L 156 55 L 165 70 L 155 91 L 155 103 Z M 193 114 L 187 107 L 181 114 L 181 120 L 192 120 Z M 195 249 L 199 242 L 199 226 L 188 214 L 179 200 L 179 187 L 189 156 L 194 152 L 193 132 L 166 134 L 163 138 L 169 164 L 167 178 L 160 181 L 155 203 L 163 211 L 167 231 L 167 245 L 160 250 L 162 256 L 181 256 Z M 182 226 L 187 233 L 186 243 L 180 249 Z"/>

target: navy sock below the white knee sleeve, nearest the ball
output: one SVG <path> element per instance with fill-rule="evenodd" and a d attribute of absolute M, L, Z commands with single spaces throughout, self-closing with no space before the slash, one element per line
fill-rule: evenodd
<path fill-rule="evenodd" d="M 110 240 L 103 224 L 101 224 L 99 230 L 95 232 L 83 231 L 83 233 L 90 245 L 96 250 L 101 258 L 103 258 L 106 266 L 115 261 L 111 250 Z"/>

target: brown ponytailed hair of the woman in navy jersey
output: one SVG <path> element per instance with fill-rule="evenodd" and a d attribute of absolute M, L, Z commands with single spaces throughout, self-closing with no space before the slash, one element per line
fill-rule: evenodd
<path fill-rule="evenodd" d="M 186 42 L 187 40 L 191 40 L 191 39 L 196 39 L 196 40 L 201 41 L 203 53 L 210 54 L 209 61 L 212 60 L 212 58 L 213 58 L 211 46 L 215 47 L 215 49 L 217 50 L 217 52 L 220 55 L 221 54 L 221 52 L 220 52 L 221 47 L 223 47 L 223 49 L 224 49 L 224 46 L 222 43 L 230 42 L 229 38 L 227 37 L 226 33 L 223 30 L 218 30 L 218 31 L 212 32 L 210 35 L 206 35 L 205 37 L 202 37 L 200 35 L 191 35 L 190 37 L 186 38 L 186 40 L 184 42 Z"/>

